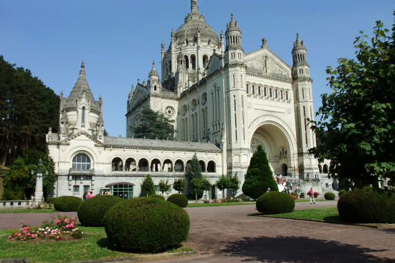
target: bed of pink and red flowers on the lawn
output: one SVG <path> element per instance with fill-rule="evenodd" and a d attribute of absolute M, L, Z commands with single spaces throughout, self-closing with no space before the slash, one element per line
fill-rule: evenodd
<path fill-rule="evenodd" d="M 76 228 L 76 220 L 74 218 L 67 219 L 66 217 L 59 217 L 55 223 L 43 222 L 42 226 L 30 227 L 21 221 L 21 228 L 15 231 L 8 239 L 15 240 L 31 240 L 31 239 L 74 239 L 81 238 L 84 234 L 82 230 Z"/>

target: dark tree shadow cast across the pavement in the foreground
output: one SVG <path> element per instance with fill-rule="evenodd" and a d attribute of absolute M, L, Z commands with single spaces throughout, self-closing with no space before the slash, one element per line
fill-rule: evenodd
<path fill-rule="evenodd" d="M 259 262 L 394 262 L 371 253 L 387 251 L 363 248 L 309 237 L 246 237 L 231 242 L 220 252 Z"/>

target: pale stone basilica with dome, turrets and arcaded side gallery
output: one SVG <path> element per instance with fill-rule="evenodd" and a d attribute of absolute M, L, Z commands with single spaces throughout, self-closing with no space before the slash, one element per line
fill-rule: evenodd
<path fill-rule="evenodd" d="M 319 192 L 331 188 L 331 181 L 322 181 L 328 163 L 308 154 L 316 144 L 309 125 L 312 79 L 299 35 L 290 50 L 292 66 L 270 51 L 266 39 L 245 53 L 234 15 L 225 33 L 217 33 L 191 0 L 184 24 L 170 36 L 167 48 L 160 45 L 160 66 L 153 62 L 147 82 L 131 86 L 127 138 L 104 136 L 103 100 L 93 98 L 82 62 L 70 95 L 61 94 L 59 132 L 46 136 L 58 174 L 55 196 L 93 190 L 138 197 L 147 174 L 156 185 L 161 179 L 172 183 L 185 177 L 196 154 L 212 183 L 207 198 L 221 198 L 217 180 L 237 174 L 242 185 L 257 145 L 264 147 L 273 175 Z M 140 123 L 144 105 L 174 120 L 173 140 L 134 138 L 130 126 Z"/>

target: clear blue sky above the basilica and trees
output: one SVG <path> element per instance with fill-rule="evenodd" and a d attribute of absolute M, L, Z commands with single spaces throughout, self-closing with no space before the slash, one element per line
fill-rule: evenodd
<path fill-rule="evenodd" d="M 217 33 L 233 13 L 245 53 L 268 47 L 292 66 L 296 33 L 304 41 L 313 79 L 314 109 L 330 93 L 327 66 L 355 57 L 354 39 L 369 38 L 377 20 L 394 24 L 393 0 L 199 0 L 199 12 Z M 0 55 L 68 97 L 84 60 L 95 100 L 102 96 L 104 129 L 126 135 L 131 85 L 160 69 L 160 44 L 170 44 L 190 12 L 190 0 L 0 0 Z M 158 71 L 160 74 L 160 71 Z"/>

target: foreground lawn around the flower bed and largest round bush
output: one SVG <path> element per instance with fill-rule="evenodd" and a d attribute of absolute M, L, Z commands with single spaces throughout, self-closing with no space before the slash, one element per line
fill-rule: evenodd
<path fill-rule="evenodd" d="M 75 262 L 149 255 L 121 251 L 109 240 L 104 228 L 79 228 L 84 232 L 82 239 L 48 242 L 8 240 L 12 230 L 0 230 L 0 258 L 26 258 L 28 262 Z M 169 252 L 183 251 L 192 249 L 181 247 Z"/>

